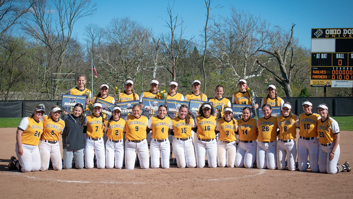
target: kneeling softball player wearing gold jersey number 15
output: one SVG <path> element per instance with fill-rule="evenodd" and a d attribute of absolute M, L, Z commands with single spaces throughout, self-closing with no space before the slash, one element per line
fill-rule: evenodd
<path fill-rule="evenodd" d="M 173 152 L 179 168 L 196 166 L 195 151 L 191 138 L 191 131 L 194 131 L 196 125 L 187 113 L 187 106 L 181 105 L 179 116 L 173 118 L 169 124 L 168 133 L 174 135 Z"/>

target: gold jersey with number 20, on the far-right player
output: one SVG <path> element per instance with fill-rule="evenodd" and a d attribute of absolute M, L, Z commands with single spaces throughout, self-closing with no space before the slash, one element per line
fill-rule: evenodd
<path fill-rule="evenodd" d="M 321 121 L 320 119 L 317 122 L 317 131 L 319 133 L 319 142 L 321 144 L 327 144 L 336 140 L 335 135 L 340 133 L 340 127 L 337 121 L 330 117 L 330 121 L 328 119 Z"/>

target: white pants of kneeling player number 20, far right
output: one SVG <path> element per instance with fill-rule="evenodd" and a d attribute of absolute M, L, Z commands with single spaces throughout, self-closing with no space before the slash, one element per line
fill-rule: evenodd
<path fill-rule="evenodd" d="M 337 173 L 337 162 L 340 158 L 340 145 L 337 146 L 334 157 L 330 160 L 330 152 L 335 142 L 331 142 L 329 146 L 319 145 L 319 171 L 321 173 L 336 174 Z M 311 167 L 311 164 L 310 164 Z"/>

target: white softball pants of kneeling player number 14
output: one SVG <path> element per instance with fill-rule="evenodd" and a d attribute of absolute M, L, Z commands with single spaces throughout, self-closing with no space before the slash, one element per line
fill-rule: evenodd
<path fill-rule="evenodd" d="M 251 143 L 243 143 L 239 141 L 237 147 L 237 155 L 235 155 L 235 167 L 252 168 L 256 158 L 256 140 Z"/>

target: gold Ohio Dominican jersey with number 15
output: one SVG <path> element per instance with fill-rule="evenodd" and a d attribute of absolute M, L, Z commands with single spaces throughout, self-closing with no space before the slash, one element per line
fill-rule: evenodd
<path fill-rule="evenodd" d="M 170 121 L 170 125 L 169 125 L 169 129 L 174 129 L 174 137 L 176 138 L 190 137 L 192 127 L 195 127 L 195 124 L 191 117 L 190 117 L 189 124 L 186 124 L 185 118 L 180 119 L 179 117 L 175 117 Z"/>

